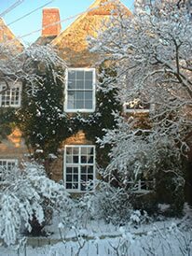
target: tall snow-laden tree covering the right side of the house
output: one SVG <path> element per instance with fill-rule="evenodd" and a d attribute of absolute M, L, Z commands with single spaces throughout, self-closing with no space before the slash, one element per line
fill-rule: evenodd
<path fill-rule="evenodd" d="M 181 1 L 180 1 L 181 2 Z M 91 50 L 117 68 L 122 105 L 132 110 L 101 141 L 113 146 L 104 175 L 127 188 L 129 180 L 172 174 L 183 184 L 186 135 L 191 131 L 192 21 L 178 1 L 136 1 L 128 17 L 121 7 L 108 28 L 89 38 Z M 142 112 L 142 111 L 141 111 Z M 178 182 L 182 181 L 182 182 Z M 172 189 L 174 190 L 174 189 Z"/>

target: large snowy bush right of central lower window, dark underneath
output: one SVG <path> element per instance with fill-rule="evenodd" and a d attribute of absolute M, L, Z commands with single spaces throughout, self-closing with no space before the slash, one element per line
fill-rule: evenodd
<path fill-rule="evenodd" d="M 113 145 L 111 158 L 102 176 L 109 182 L 132 194 L 131 204 L 135 209 L 156 213 L 158 202 L 172 206 L 172 213 L 181 214 L 184 204 L 184 156 L 171 135 L 160 135 L 158 126 L 151 129 L 137 127 L 136 118 L 125 120 L 117 117 L 117 128 L 108 130 L 101 147 Z M 138 180 L 153 183 L 150 193 L 143 190 L 142 198 L 134 192 Z M 143 189 L 143 187 L 142 187 Z M 148 191 L 148 192 L 149 192 Z M 153 192 L 152 192 L 153 191 Z M 140 192 L 141 194 L 141 192 Z"/>

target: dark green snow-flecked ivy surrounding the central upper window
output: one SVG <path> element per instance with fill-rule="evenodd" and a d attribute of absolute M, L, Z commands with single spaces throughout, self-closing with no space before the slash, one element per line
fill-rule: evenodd
<path fill-rule="evenodd" d="M 4 126 L 7 127 L 5 135 L 10 134 L 13 125 L 18 126 L 28 148 L 32 148 L 34 155 L 42 159 L 48 158 L 49 153 L 58 154 L 62 141 L 78 131 L 83 131 L 87 139 L 99 148 L 97 138 L 104 135 L 103 129 L 112 129 L 116 125 L 112 113 L 120 111 L 121 106 L 117 100 L 117 88 L 109 87 L 106 79 L 110 77 L 116 80 L 116 71 L 105 64 L 98 71 L 102 76 L 99 76 L 95 112 L 72 115 L 63 112 L 64 71 L 58 68 L 55 70 L 54 66 L 48 66 L 43 73 L 37 70 L 41 79 L 33 90 L 23 82 L 21 108 L 1 109 L 3 114 L 0 112 L 0 118 L 2 114 Z M 105 147 L 97 150 L 97 162 L 100 165 L 108 163 L 109 149 Z"/>

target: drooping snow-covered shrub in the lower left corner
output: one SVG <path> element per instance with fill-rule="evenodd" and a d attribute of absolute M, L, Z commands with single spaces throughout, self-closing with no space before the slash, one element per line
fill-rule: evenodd
<path fill-rule="evenodd" d="M 64 187 L 36 163 L 5 172 L 0 188 L 0 238 L 7 246 L 17 243 L 24 230 L 31 232 L 34 219 L 42 225 L 46 211 L 70 202 Z"/>

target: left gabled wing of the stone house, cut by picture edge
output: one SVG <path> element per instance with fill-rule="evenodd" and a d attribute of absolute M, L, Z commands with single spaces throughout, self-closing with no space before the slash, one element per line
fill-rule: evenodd
<path fill-rule="evenodd" d="M 0 19 L 0 48 L 1 59 L 7 58 L 7 52 L 14 55 L 23 50 L 23 45 L 20 40 L 13 35 L 2 18 Z M 1 70 L 4 70 L 3 62 L 1 64 Z M 4 71 L 4 74 L 0 72 L 1 113 L 4 113 L 7 107 L 21 107 L 21 81 L 12 78 L 8 69 Z M 1 124 L 2 121 L 0 121 L 0 125 Z M 15 129 L 12 134 L 7 136 L 7 139 L 4 139 L 2 143 L 0 143 L 0 167 L 11 169 L 19 163 L 26 150 L 27 147 L 21 139 L 21 131 Z"/>

